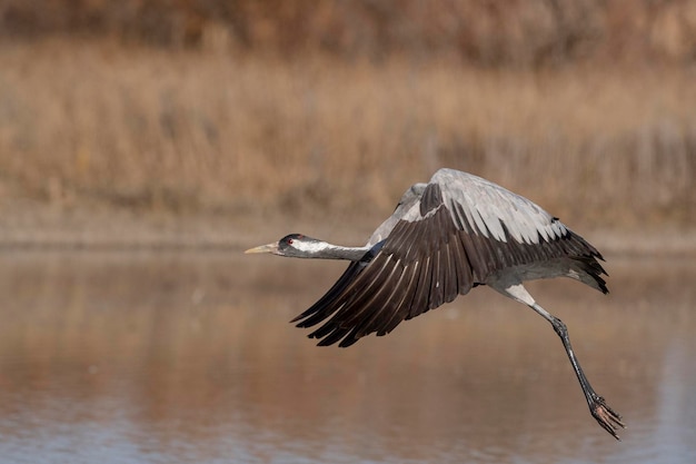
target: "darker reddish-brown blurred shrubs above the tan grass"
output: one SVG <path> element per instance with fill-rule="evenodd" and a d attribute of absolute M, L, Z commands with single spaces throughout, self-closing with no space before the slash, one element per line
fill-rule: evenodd
<path fill-rule="evenodd" d="M 108 37 L 304 56 L 447 57 L 488 67 L 693 62 L 692 0 L 0 0 L 0 36 Z"/>

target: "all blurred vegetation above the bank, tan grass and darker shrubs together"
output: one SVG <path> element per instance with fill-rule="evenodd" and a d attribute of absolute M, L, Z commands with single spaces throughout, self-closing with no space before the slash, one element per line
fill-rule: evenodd
<path fill-rule="evenodd" d="M 378 218 L 441 166 L 693 225 L 695 4 L 0 0 L 0 231 L 21 199 Z"/>

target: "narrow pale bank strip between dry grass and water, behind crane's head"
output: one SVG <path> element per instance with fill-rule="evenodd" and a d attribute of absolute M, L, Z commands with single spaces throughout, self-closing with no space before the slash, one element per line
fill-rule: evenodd
<path fill-rule="evenodd" d="M 19 213 L 21 211 L 21 213 Z M 268 219 L 271 217 L 271 219 Z M 0 208 L 0 251 L 40 250 L 229 250 L 243 251 L 289 233 L 357 244 L 381 221 L 364 217 L 282 217 L 271 211 L 187 214 L 70 208 L 32 205 Z M 668 225 L 575 228 L 605 257 L 696 257 L 696 228 Z"/>

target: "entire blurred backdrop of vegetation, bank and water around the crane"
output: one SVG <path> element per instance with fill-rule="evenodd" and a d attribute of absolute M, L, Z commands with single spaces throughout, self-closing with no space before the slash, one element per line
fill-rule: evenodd
<path fill-rule="evenodd" d="M 604 253 L 530 288 L 620 444 L 490 292 L 319 349 L 344 266 L 241 255 L 440 167 Z M 695 179 L 694 0 L 0 0 L 0 462 L 694 462 Z"/>

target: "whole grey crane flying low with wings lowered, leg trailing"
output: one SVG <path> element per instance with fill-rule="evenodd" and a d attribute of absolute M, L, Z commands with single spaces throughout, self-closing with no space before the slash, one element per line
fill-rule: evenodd
<path fill-rule="evenodd" d="M 438 170 L 411 186 L 364 247 L 292 234 L 248 253 L 348 259 L 334 286 L 292 322 L 321 324 L 319 345 L 350 346 L 390 333 L 401 320 L 488 285 L 541 315 L 564 343 L 591 414 L 612 435 L 620 416 L 598 396 L 570 347 L 565 324 L 527 293 L 525 280 L 570 277 L 607 293 L 599 251 L 533 201 L 480 177 Z"/>

